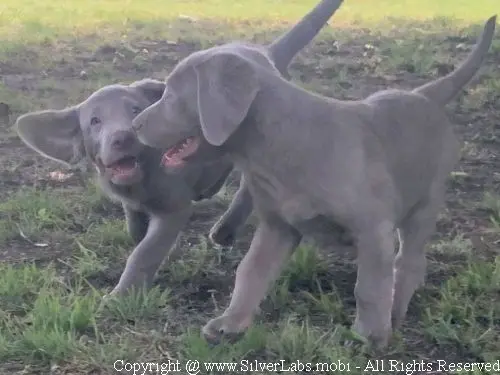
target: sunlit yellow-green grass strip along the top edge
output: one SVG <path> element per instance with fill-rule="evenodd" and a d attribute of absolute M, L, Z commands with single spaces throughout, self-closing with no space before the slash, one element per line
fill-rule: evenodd
<path fill-rule="evenodd" d="M 48 2 L 35 0 L 9 0 L 0 6 L 0 35 L 6 44 L 19 45 L 29 42 L 48 43 L 54 38 L 69 35 L 124 36 L 139 32 L 147 37 L 160 31 L 171 34 L 165 21 L 179 18 L 210 19 L 215 22 L 266 24 L 291 22 L 307 12 L 314 0 L 284 1 L 257 0 L 248 6 L 246 1 L 193 0 L 170 1 L 116 1 L 90 0 L 86 2 Z M 453 18 L 455 22 L 482 22 L 486 16 L 498 11 L 495 0 L 470 2 L 436 2 L 425 0 L 395 2 L 355 0 L 346 2 L 337 13 L 336 26 L 363 24 L 387 25 L 391 19 L 428 21 L 436 18 Z M 137 26 L 145 28 L 137 30 Z M 4 48 L 7 48 L 4 45 Z"/>

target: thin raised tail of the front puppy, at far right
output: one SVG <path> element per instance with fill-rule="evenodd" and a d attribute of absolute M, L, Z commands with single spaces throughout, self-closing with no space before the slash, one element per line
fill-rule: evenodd
<path fill-rule="evenodd" d="M 444 77 L 417 87 L 413 92 L 422 94 L 443 106 L 452 100 L 481 67 L 493 40 L 496 18 L 494 15 L 486 21 L 476 46 L 457 69 Z"/>

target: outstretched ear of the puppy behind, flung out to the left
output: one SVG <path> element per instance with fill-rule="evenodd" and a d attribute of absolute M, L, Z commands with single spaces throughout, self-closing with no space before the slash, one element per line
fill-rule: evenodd
<path fill-rule="evenodd" d="M 27 113 L 15 128 L 24 143 L 49 159 L 71 166 L 85 157 L 76 107 Z"/>

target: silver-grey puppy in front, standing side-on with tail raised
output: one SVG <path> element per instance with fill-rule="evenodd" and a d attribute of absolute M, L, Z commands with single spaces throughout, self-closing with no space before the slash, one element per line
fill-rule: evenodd
<path fill-rule="evenodd" d="M 244 332 L 302 236 L 334 222 L 357 247 L 353 329 L 387 345 L 424 282 L 424 246 L 458 160 L 444 106 L 479 69 L 495 22 L 449 75 L 363 100 L 308 92 L 257 64 L 242 44 L 193 53 L 175 67 L 161 100 L 133 121 L 140 141 L 169 148 L 172 164 L 229 157 L 259 216 L 229 307 L 203 327 L 207 339 Z"/>

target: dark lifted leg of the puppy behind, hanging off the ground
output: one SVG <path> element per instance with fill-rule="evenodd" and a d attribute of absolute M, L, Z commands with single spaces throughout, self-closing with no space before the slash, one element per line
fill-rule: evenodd
<path fill-rule="evenodd" d="M 220 246 L 232 246 L 237 231 L 245 224 L 253 210 L 253 201 L 246 186 L 244 176 L 241 177 L 240 187 L 231 201 L 228 209 L 210 229 L 210 240 Z"/>

